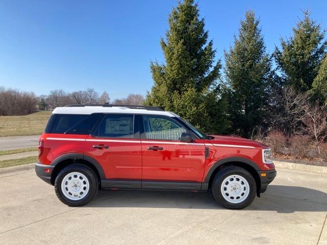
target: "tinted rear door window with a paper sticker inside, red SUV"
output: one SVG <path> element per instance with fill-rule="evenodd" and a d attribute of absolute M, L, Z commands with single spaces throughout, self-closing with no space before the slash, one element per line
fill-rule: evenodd
<path fill-rule="evenodd" d="M 106 114 L 98 129 L 99 137 L 133 138 L 133 115 Z"/>

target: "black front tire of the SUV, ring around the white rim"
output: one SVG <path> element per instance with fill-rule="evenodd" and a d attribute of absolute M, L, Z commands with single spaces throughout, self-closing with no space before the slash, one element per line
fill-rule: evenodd
<path fill-rule="evenodd" d="M 231 175 L 239 175 L 243 177 L 249 185 L 249 193 L 247 198 L 242 201 L 241 203 L 231 203 L 228 202 L 224 197 L 223 193 L 221 192 L 222 182 L 225 178 Z M 225 208 L 228 209 L 242 209 L 250 205 L 255 198 L 256 194 L 256 184 L 253 176 L 244 168 L 229 166 L 220 170 L 217 175 L 215 176 L 213 183 L 212 183 L 212 191 L 216 201 Z"/>

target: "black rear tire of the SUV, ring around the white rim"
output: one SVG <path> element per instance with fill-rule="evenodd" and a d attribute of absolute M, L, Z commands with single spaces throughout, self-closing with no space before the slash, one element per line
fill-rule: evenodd
<path fill-rule="evenodd" d="M 73 172 L 83 174 L 87 178 L 88 183 L 89 183 L 88 192 L 86 193 L 85 197 L 81 198 L 80 200 L 68 199 L 67 197 L 65 197 L 65 195 L 61 189 L 61 183 L 62 183 L 64 177 L 66 175 L 68 175 L 69 173 L 73 173 Z M 71 207 L 83 206 L 83 205 L 87 204 L 88 202 L 90 202 L 95 197 L 95 195 L 98 193 L 98 189 L 99 189 L 99 180 L 98 180 L 96 173 L 91 168 L 89 168 L 85 165 L 82 165 L 82 164 L 72 164 L 72 165 L 68 165 L 68 166 L 64 167 L 59 172 L 59 174 L 57 175 L 56 180 L 55 180 L 55 191 L 56 191 L 57 197 L 59 198 L 59 200 L 62 203 L 66 204 L 68 206 L 71 206 Z"/>

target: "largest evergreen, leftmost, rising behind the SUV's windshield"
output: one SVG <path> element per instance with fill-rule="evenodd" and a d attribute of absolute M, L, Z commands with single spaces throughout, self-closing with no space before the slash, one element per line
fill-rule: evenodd
<path fill-rule="evenodd" d="M 228 122 L 217 85 L 221 63 L 215 62 L 198 5 L 193 0 L 179 2 L 168 21 L 166 40 L 160 40 L 165 63 L 151 62 L 154 85 L 144 104 L 176 112 L 206 132 L 222 133 Z"/>

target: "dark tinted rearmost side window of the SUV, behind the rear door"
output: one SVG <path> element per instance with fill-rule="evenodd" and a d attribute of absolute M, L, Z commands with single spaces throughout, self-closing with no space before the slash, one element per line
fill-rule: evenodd
<path fill-rule="evenodd" d="M 53 126 L 50 130 L 50 133 L 89 134 L 90 130 L 94 126 L 99 116 L 100 116 L 99 113 L 94 113 L 90 115 L 56 114 L 56 117 L 54 119 L 50 118 L 50 120 L 53 120 Z M 50 124 L 50 121 L 48 124 Z"/>

